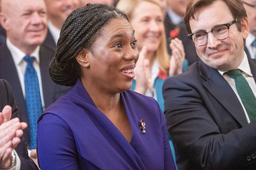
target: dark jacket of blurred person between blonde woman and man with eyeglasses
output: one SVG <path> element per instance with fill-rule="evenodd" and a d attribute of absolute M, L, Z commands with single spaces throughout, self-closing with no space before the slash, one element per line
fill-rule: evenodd
<path fill-rule="evenodd" d="M 164 21 L 164 26 L 165 26 L 165 31 L 166 31 L 166 40 L 167 40 L 167 50 L 168 53 L 171 55 L 172 50 L 169 47 L 169 44 L 171 42 L 170 40 L 170 31 L 174 30 L 176 28 L 176 25 L 174 25 L 169 18 L 169 15 L 166 14 L 166 18 Z M 196 51 L 195 51 L 195 45 L 192 42 L 192 40 L 189 39 L 188 33 L 186 31 L 186 28 L 184 24 L 180 24 L 180 34 L 177 36 L 180 40 L 182 40 L 183 46 L 184 46 L 184 51 L 186 54 L 186 59 L 189 61 L 189 65 L 191 65 L 193 62 L 196 62 L 199 60 Z"/>

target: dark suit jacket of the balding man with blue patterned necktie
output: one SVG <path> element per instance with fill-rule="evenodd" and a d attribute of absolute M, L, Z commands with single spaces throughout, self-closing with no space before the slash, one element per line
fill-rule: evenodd
<path fill-rule="evenodd" d="M 20 80 L 17 74 L 15 63 L 12 59 L 11 53 L 7 48 L 5 42 L 0 44 L 0 78 L 6 79 L 11 85 L 17 106 L 19 107 L 20 119 L 29 125 L 28 114 L 26 110 L 26 101 L 23 97 Z M 40 55 L 40 71 L 42 79 L 42 87 L 44 93 L 45 108 L 55 102 L 60 96 L 67 93 L 70 87 L 55 84 L 48 75 L 49 63 L 54 56 L 55 51 L 46 45 L 41 45 Z M 26 146 L 29 147 L 29 127 L 24 131 L 24 138 L 27 142 Z"/>

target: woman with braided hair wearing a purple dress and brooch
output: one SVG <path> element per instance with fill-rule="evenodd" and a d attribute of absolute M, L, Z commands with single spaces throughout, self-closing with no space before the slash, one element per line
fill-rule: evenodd
<path fill-rule="evenodd" d="M 87 4 L 67 17 L 49 74 L 74 86 L 38 119 L 41 169 L 176 169 L 159 105 L 129 90 L 136 42 L 114 7 Z"/>

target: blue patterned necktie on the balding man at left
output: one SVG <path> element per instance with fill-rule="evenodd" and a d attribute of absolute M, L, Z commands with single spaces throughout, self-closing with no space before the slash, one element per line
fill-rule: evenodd
<path fill-rule="evenodd" d="M 33 61 L 35 57 L 25 56 L 27 67 L 24 75 L 26 91 L 26 107 L 29 117 L 30 149 L 36 149 L 37 120 L 43 112 L 38 76 Z"/>

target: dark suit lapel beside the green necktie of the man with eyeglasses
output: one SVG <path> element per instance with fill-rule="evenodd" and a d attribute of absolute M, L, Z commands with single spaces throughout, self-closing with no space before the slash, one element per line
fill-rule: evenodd
<path fill-rule="evenodd" d="M 207 90 L 227 109 L 227 111 L 239 122 L 242 126 L 247 125 L 247 119 L 244 116 L 244 110 L 236 97 L 233 89 L 221 74 L 214 68 L 210 68 L 202 61 L 199 62 L 199 71 L 201 77 L 206 79 L 203 83 Z"/>

